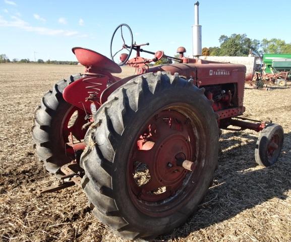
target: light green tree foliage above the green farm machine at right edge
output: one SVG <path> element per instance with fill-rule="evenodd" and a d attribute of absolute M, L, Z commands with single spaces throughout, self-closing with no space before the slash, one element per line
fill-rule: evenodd
<path fill-rule="evenodd" d="M 291 53 L 291 43 L 284 40 L 272 38 L 270 40 L 263 39 L 261 42 L 262 52 L 266 54 L 286 54 Z"/>

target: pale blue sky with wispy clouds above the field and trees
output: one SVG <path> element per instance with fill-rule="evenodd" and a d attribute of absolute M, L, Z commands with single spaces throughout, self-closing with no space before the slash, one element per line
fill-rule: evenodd
<path fill-rule="evenodd" d="M 0 0 L 0 53 L 75 61 L 71 48 L 82 46 L 109 56 L 115 27 L 127 23 L 137 43 L 150 43 L 145 49 L 174 55 L 184 46 L 190 55 L 195 2 Z M 291 42 L 289 0 L 199 2 L 203 47 L 219 46 L 220 35 L 232 33 Z"/>

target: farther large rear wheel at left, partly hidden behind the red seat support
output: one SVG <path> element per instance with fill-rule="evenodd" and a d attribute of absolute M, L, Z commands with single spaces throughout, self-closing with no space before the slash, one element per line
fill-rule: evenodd
<path fill-rule="evenodd" d="M 51 173 L 56 173 L 62 165 L 70 162 L 65 152 L 69 133 L 72 132 L 77 139 L 83 139 L 85 136 L 85 131 L 83 134 L 80 132 L 82 125 L 86 123 L 85 112 L 63 98 L 65 87 L 81 77 L 79 74 L 57 82 L 52 90 L 44 94 L 41 104 L 34 110 L 32 127 L 34 148 L 38 158 L 44 162 L 46 170 Z M 69 127 L 72 120 L 73 124 Z"/>

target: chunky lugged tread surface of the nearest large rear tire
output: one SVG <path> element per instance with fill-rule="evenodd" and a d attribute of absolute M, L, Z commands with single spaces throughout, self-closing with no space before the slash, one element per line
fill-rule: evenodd
<path fill-rule="evenodd" d="M 82 179 L 84 192 L 91 206 L 94 206 L 93 214 L 98 220 L 105 223 L 114 233 L 127 239 L 147 238 L 157 234 L 139 231 L 134 224 L 129 224 L 115 204 L 114 194 L 118 191 L 112 191 L 111 180 L 114 152 L 123 130 L 138 107 L 144 105 L 154 94 L 177 87 L 189 88 L 201 95 L 205 101 L 208 100 L 204 96 L 204 88 L 198 89 L 193 83 L 190 85 L 187 80 L 180 78 L 178 73 L 147 73 L 133 78 L 111 93 L 97 110 L 95 123 L 85 136 L 86 148 L 80 162 L 86 172 L 85 179 Z"/>

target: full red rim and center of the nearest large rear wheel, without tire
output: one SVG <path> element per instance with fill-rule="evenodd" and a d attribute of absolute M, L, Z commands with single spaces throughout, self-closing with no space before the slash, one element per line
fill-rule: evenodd
<path fill-rule="evenodd" d="M 127 173 L 129 194 L 140 211 L 151 216 L 170 214 L 193 191 L 201 168 L 196 136 L 190 118 L 170 109 L 152 116 L 140 130 Z M 178 159 L 193 161 L 194 170 L 184 169 Z"/>

